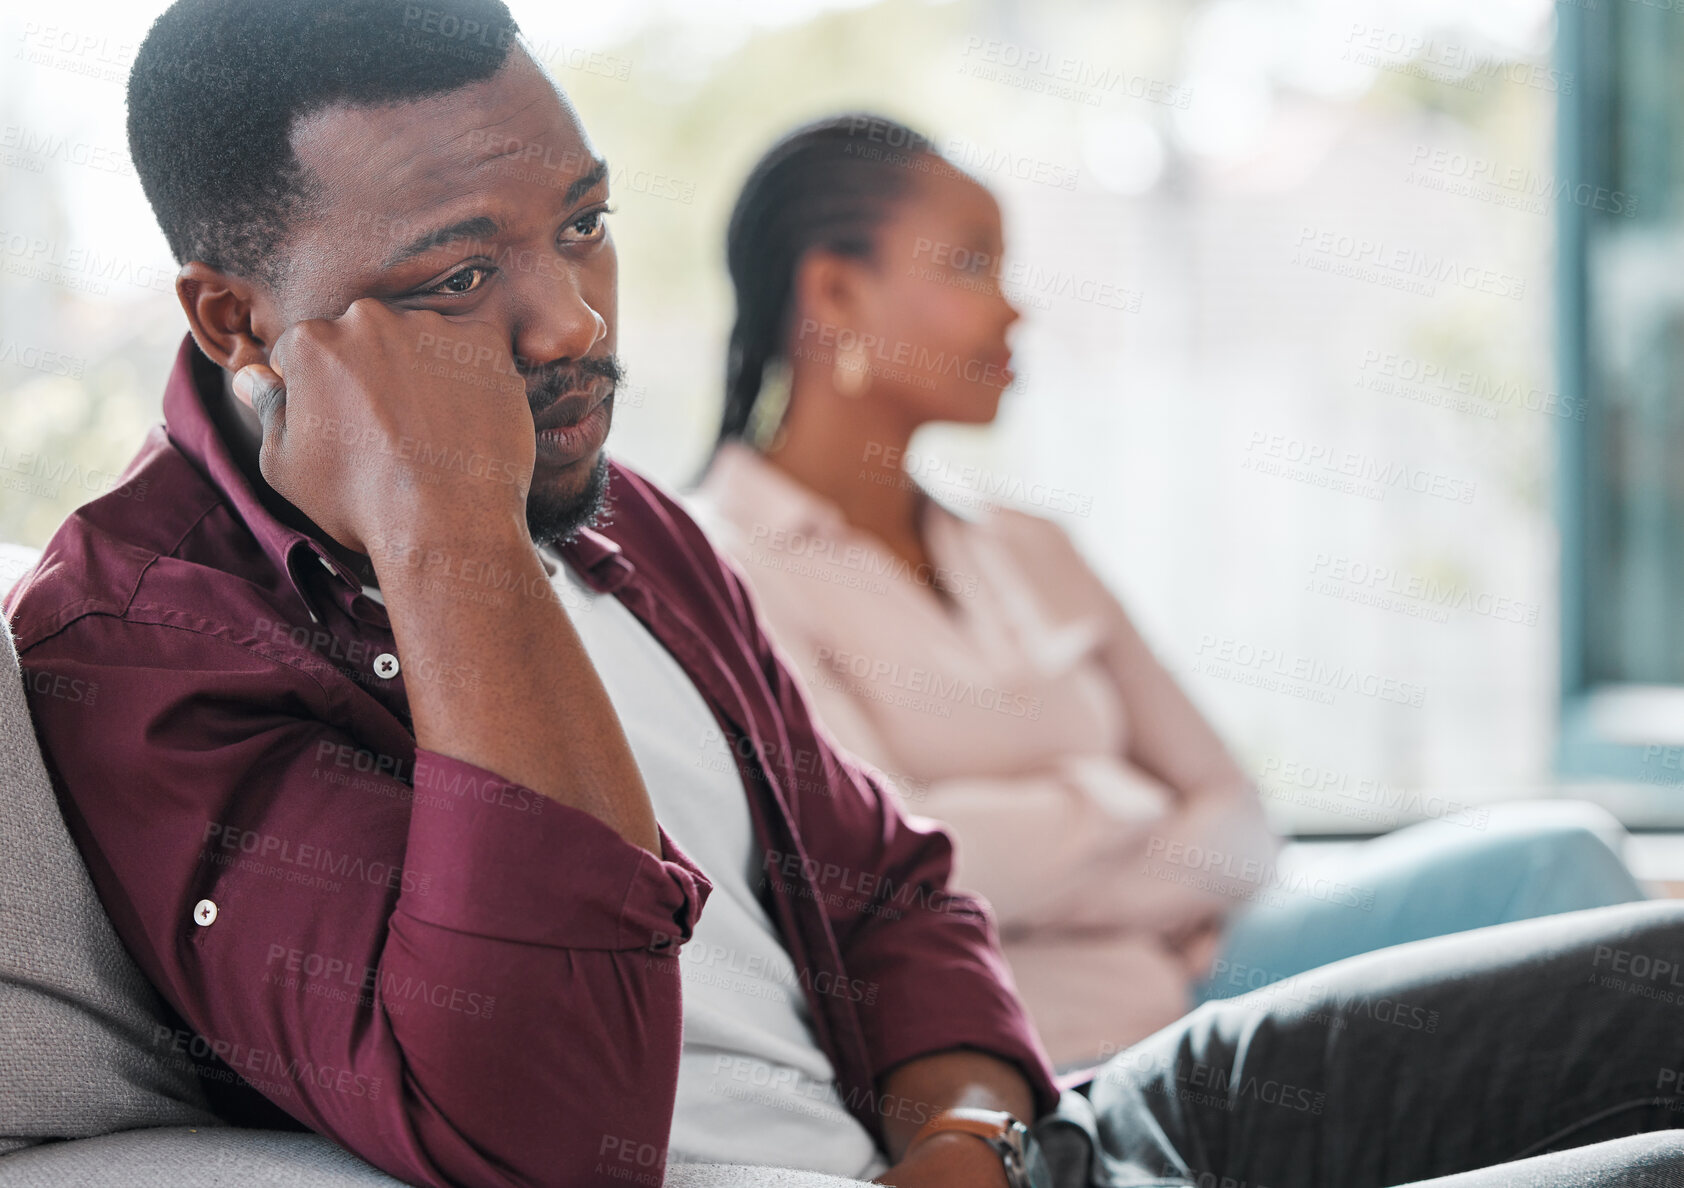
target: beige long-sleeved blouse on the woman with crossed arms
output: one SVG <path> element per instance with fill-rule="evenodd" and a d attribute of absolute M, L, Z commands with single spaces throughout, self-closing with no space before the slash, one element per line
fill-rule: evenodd
<path fill-rule="evenodd" d="M 916 573 L 753 450 L 692 499 L 837 740 L 955 837 L 1052 1058 L 1187 1009 L 1275 839 L 1255 789 L 1049 521 L 931 504 Z M 951 591 L 945 602 L 931 588 Z M 1211 864 L 1207 856 L 1218 854 Z"/>

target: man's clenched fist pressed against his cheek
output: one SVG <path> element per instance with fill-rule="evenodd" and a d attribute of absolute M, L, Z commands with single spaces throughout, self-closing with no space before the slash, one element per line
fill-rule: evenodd
<path fill-rule="evenodd" d="M 264 482 L 345 548 L 525 522 L 532 409 L 487 324 L 364 298 L 288 327 L 234 389 L 263 421 Z"/>

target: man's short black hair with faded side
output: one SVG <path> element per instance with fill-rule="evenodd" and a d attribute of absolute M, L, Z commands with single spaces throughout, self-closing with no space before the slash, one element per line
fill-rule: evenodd
<path fill-rule="evenodd" d="M 509 57 L 502 0 L 175 0 L 128 76 L 128 148 L 177 263 L 276 283 L 310 209 L 293 126 L 455 91 Z"/>

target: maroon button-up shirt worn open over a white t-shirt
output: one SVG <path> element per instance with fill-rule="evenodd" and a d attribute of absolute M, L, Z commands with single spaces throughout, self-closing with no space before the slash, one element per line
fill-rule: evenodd
<path fill-rule="evenodd" d="M 71 832 L 185 1021 L 163 1038 L 207 1058 L 227 1116 L 253 1119 L 232 1070 L 414 1183 L 650 1173 L 679 1072 L 675 945 L 707 880 L 665 834 L 655 858 L 416 747 L 402 657 L 381 676 L 397 652 L 384 608 L 258 502 L 205 411 L 219 384 L 187 339 L 126 482 L 5 603 Z M 1014 1062 L 1051 1109 L 987 908 L 945 890 L 946 834 L 834 750 L 689 516 L 625 467 L 610 495 L 610 524 L 564 556 L 717 718 L 761 898 L 849 1109 L 881 1141 L 909 1107 L 877 1078 L 957 1046 Z"/>

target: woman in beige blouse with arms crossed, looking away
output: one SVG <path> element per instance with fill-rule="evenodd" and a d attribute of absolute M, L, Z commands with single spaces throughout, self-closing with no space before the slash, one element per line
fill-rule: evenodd
<path fill-rule="evenodd" d="M 903 468 L 921 425 L 995 416 L 1019 317 L 1002 254 L 994 197 L 903 125 L 775 145 L 731 216 L 695 502 L 823 721 L 951 829 L 1052 1058 L 1388 944 L 1640 898 L 1588 805 L 1276 868 L 1250 780 L 1063 531 L 945 507 Z"/>

